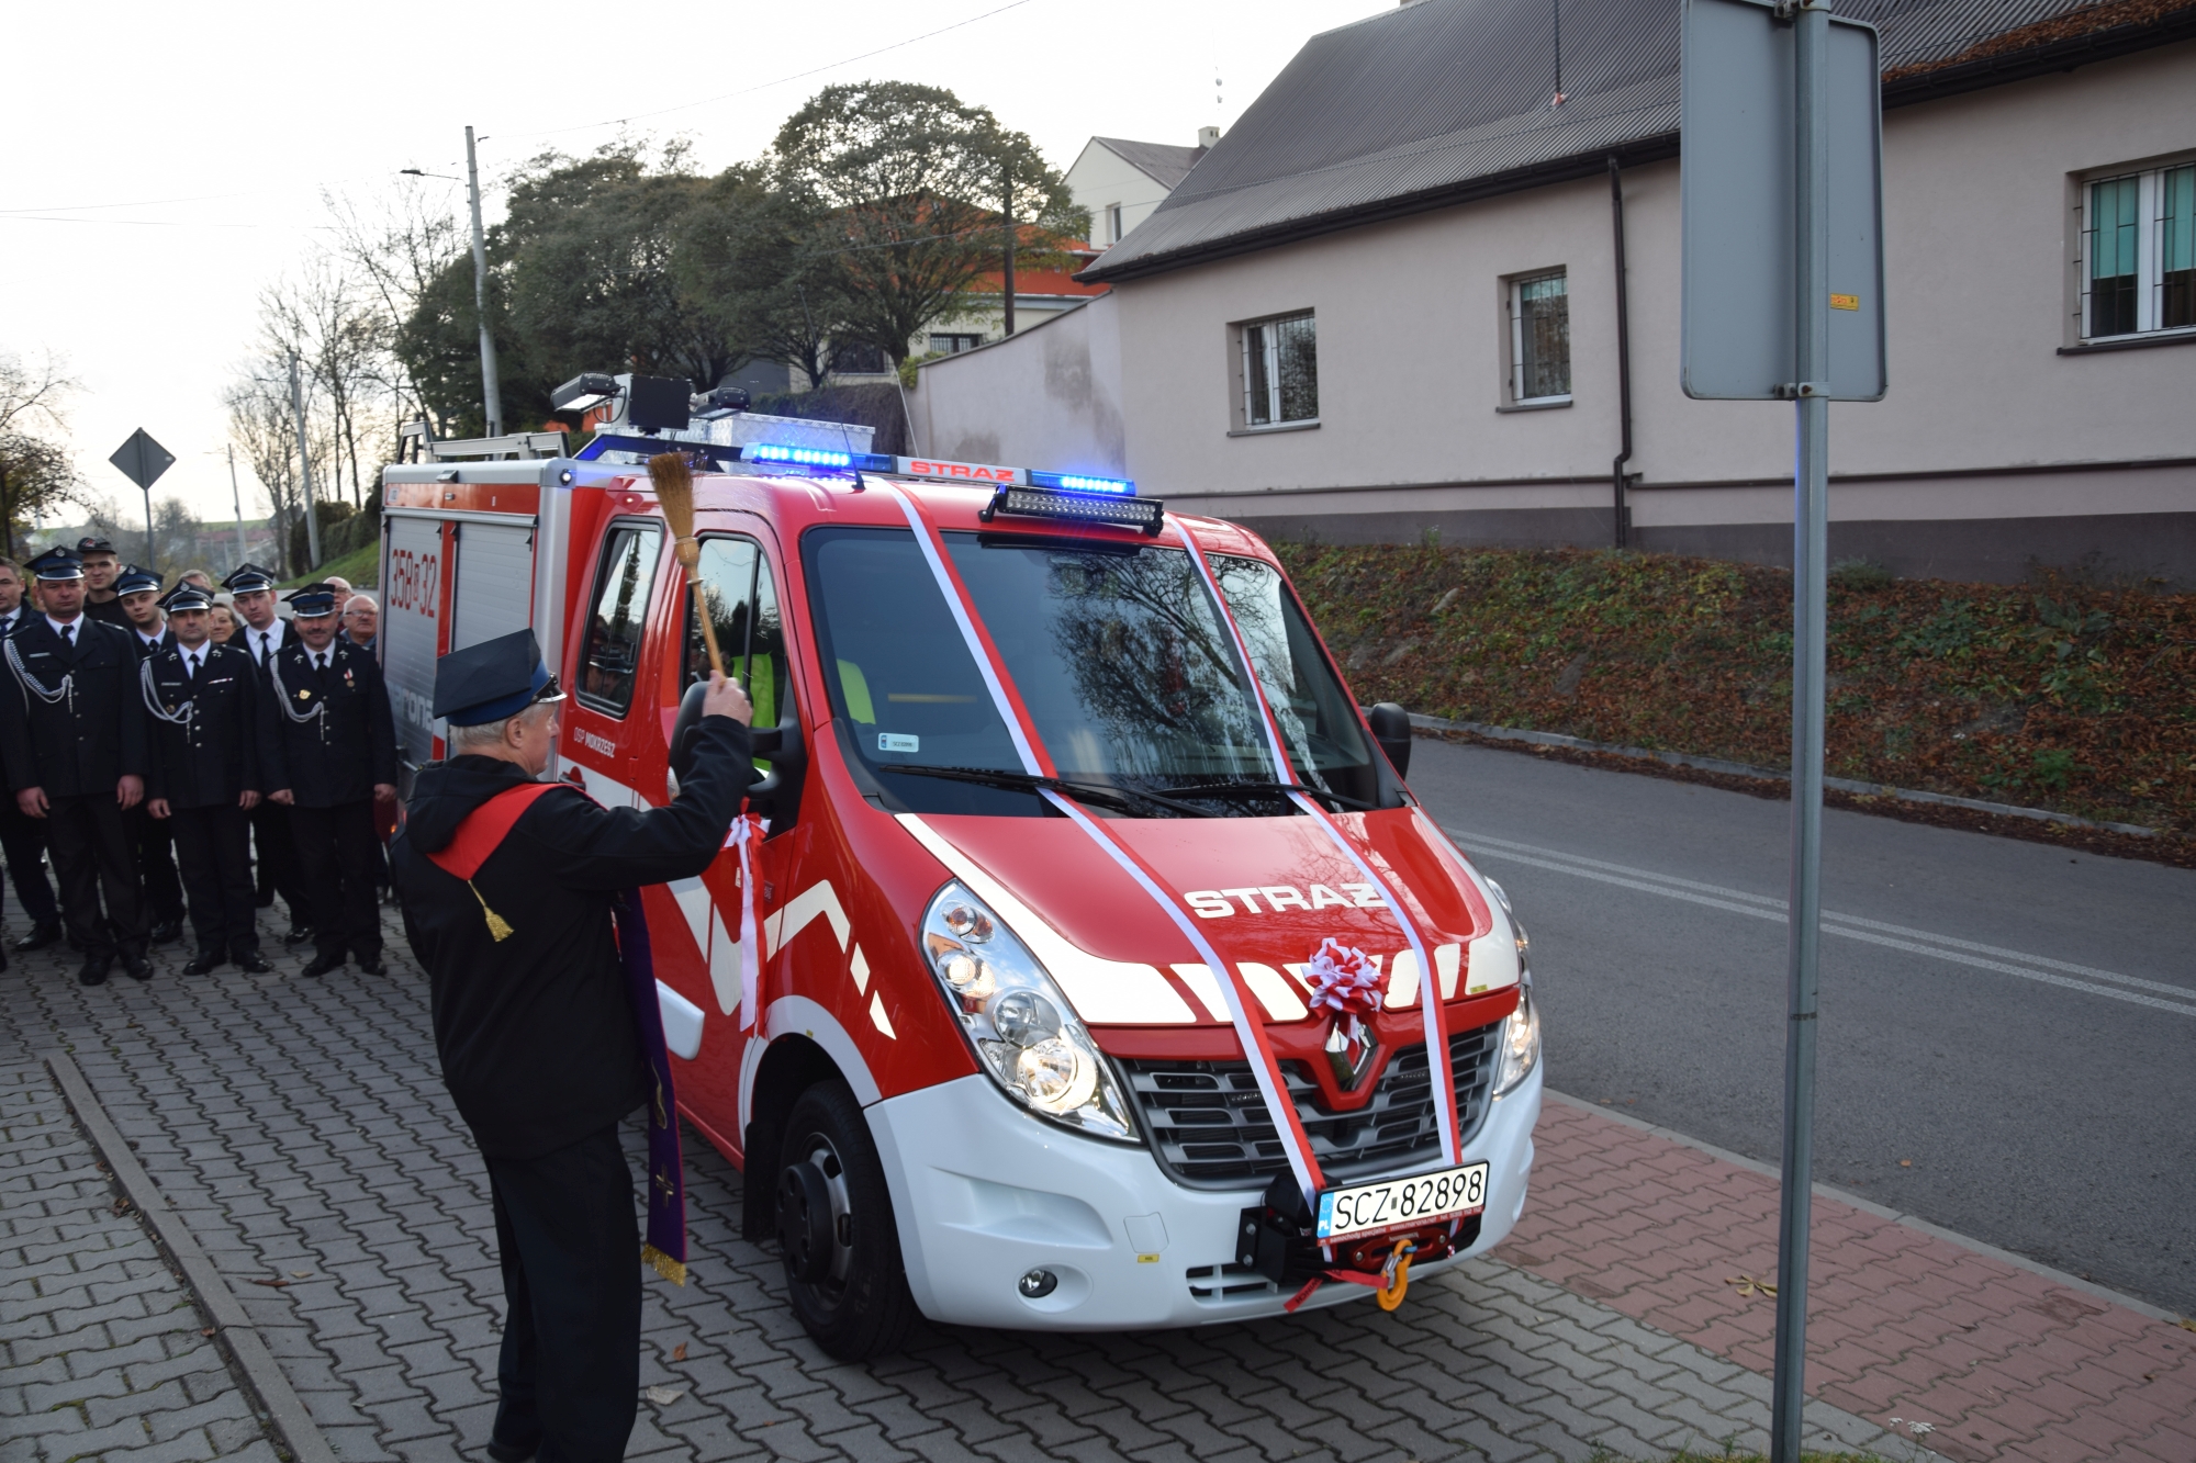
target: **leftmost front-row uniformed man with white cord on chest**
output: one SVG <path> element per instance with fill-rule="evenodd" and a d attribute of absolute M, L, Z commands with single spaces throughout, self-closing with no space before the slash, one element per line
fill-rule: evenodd
<path fill-rule="evenodd" d="M 86 986 L 121 956 L 138 980 L 145 907 L 123 813 L 145 797 L 145 705 L 130 630 L 83 613 L 83 560 L 48 549 L 31 560 L 44 613 L 0 641 L 0 749 L 15 806 L 46 819 L 68 938 L 83 951 Z M 105 916 L 99 898 L 105 894 Z"/>

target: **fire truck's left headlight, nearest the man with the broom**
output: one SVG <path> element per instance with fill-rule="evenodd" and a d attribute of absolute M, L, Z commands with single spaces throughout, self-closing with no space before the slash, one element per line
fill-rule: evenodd
<path fill-rule="evenodd" d="M 1096 1138 L 1135 1140 L 1129 1103 L 1074 1006 L 960 881 L 922 914 L 922 953 L 984 1070 L 1017 1103 Z"/>

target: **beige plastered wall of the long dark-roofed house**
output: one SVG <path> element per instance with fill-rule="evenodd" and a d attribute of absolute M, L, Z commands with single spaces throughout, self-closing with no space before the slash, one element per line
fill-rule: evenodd
<path fill-rule="evenodd" d="M 2088 560 L 2196 582 L 2196 340 L 2060 354 L 2077 340 L 2080 174 L 2189 154 L 2192 44 L 1884 116 L 1891 393 L 1831 406 L 1834 556 L 1998 580 Z M 1781 560 L 1792 409 L 1678 389 L 1678 163 L 1627 171 L 1625 213 L 1632 538 Z M 1596 178 L 1127 281 L 1127 470 L 1269 534 L 1610 543 L 1612 259 Z M 1502 411 L 1502 281 L 1553 266 L 1570 279 L 1572 404 Z M 1230 435 L 1228 325 L 1291 310 L 1318 314 L 1320 424 Z M 1034 356 L 1041 334 L 1004 349 Z M 946 404 L 973 378 L 938 384 L 968 439 L 999 420 Z M 1034 424 L 997 431 L 1021 442 Z"/>

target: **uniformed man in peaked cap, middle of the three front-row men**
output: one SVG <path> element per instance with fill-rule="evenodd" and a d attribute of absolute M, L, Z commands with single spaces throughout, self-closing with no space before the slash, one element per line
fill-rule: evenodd
<path fill-rule="evenodd" d="M 138 690 L 152 718 L 145 804 L 173 828 L 191 892 L 198 953 L 182 973 L 233 960 L 264 975 L 272 967 L 259 953 L 246 813 L 259 804 L 259 745 L 274 736 L 274 703 L 259 694 L 248 652 L 209 639 L 213 595 L 178 584 L 163 606 L 176 644 L 138 668 Z"/>

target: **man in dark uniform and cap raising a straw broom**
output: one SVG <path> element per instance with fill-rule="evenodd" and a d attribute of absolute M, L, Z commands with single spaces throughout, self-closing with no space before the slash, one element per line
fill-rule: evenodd
<path fill-rule="evenodd" d="M 404 931 L 433 980 L 435 1046 L 488 1162 L 509 1316 L 488 1454 L 617 1463 L 639 1393 L 641 1263 L 619 1120 L 650 1090 L 610 934 L 621 890 L 716 859 L 753 775 L 753 707 L 712 679 L 692 775 L 663 808 L 536 797 L 470 881 L 452 850 L 481 804 L 540 780 L 562 694 L 529 630 L 441 657 L 450 760 L 413 782 L 389 846 Z M 494 909 L 507 929 L 490 929 Z"/>

